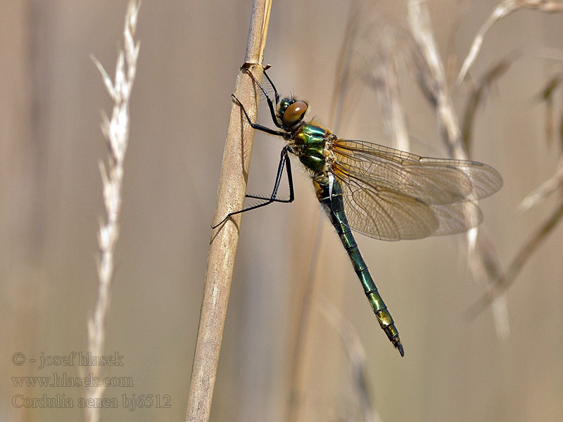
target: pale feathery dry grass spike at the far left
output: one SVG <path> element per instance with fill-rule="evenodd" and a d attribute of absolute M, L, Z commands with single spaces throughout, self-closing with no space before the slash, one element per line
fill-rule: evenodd
<path fill-rule="evenodd" d="M 88 321 L 88 350 L 92 356 L 103 354 L 103 343 L 106 338 L 106 315 L 109 308 L 110 285 L 113 279 L 113 254 L 119 235 L 119 215 L 121 210 L 121 186 L 123 179 L 123 161 L 129 140 L 129 96 L 137 69 L 139 43 L 135 44 L 133 36 L 137 26 L 139 4 L 129 1 L 125 15 L 125 47 L 120 51 L 118 64 L 115 67 L 115 82 L 112 82 L 106 70 L 98 60 L 92 58 L 98 67 L 103 82 L 106 84 L 114 106 L 111 120 L 103 115 L 102 132 L 108 140 L 108 166 L 100 162 L 103 181 L 103 203 L 106 207 L 106 221 L 100 223 L 98 244 L 100 257 L 98 262 L 99 290 L 94 316 Z M 91 366 L 89 371 L 99 376 L 100 366 Z M 86 390 L 87 398 L 99 399 L 103 395 L 103 387 L 91 386 Z M 99 420 L 99 407 L 86 408 L 86 420 Z"/>

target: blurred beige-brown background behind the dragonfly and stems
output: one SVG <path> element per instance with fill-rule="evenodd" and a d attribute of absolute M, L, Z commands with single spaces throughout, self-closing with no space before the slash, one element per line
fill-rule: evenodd
<path fill-rule="evenodd" d="M 385 3 L 385 4 L 384 4 Z M 385 21 L 405 24 L 404 1 L 381 2 Z M 429 1 L 443 57 L 457 68 L 495 1 Z M 82 409 L 16 409 L 14 395 L 80 388 L 15 387 L 12 377 L 79 375 L 77 366 L 15 366 L 87 349 L 87 317 L 97 295 L 96 230 L 103 215 L 99 160 L 106 145 L 100 110 L 110 98 L 89 55 L 110 75 L 127 1 L 20 1 L 0 4 L 0 420 L 81 420 Z M 265 61 L 284 93 L 310 101 L 329 123 L 348 2 L 274 1 Z M 151 1 L 139 13 L 141 41 L 131 100 L 120 239 L 107 321 L 106 352 L 125 366 L 132 388 L 110 388 L 120 409 L 102 421 L 182 421 L 194 354 L 217 182 L 231 101 L 244 57 L 251 1 Z M 536 95 L 560 70 L 563 15 L 520 11 L 486 35 L 471 75 L 478 79 L 509 51 L 521 56 L 493 84 L 474 127 L 472 158 L 493 165 L 505 186 L 483 200 L 486 226 L 504 268 L 561 199 L 525 214 L 517 205 L 548 179 L 560 153 L 548 144 Z M 402 95 L 413 152 L 445 156 L 434 111 L 411 82 Z M 454 98 L 461 115 L 467 87 Z M 560 98 L 558 98 L 560 99 Z M 384 143 L 369 97 L 339 135 Z M 377 101 L 371 100 L 377 104 Z M 557 108 L 557 106 L 559 106 Z M 265 103 L 259 120 L 271 126 Z M 560 101 L 556 102 L 557 116 Z M 559 119 L 559 117 L 557 117 Z M 267 193 L 282 143 L 257 134 L 248 191 Z M 297 160 L 293 160 L 298 169 Z M 483 294 L 469 276 L 463 236 L 386 243 L 357 240 L 405 345 L 401 359 L 381 332 L 348 257 L 323 216 L 305 172 L 296 201 L 243 217 L 212 409 L 213 421 L 363 421 L 350 372 L 350 343 L 320 308 L 346 319 L 365 352 L 372 407 L 383 421 L 560 421 L 563 414 L 563 232 L 557 227 L 507 295 L 510 338 L 493 312 L 465 312 Z M 284 186 L 285 188 L 285 186 Z M 284 191 L 285 193 L 286 191 Z M 301 342 L 299 392 L 293 345 L 311 258 L 318 293 Z M 320 300 L 324 305 L 320 305 Z M 351 333 L 346 328 L 346 333 Z M 170 409 L 121 406 L 122 395 L 169 395 Z"/>

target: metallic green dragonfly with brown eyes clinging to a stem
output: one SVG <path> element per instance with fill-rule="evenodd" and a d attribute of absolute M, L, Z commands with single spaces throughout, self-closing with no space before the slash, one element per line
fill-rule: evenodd
<path fill-rule="evenodd" d="M 229 217 L 275 202 L 291 203 L 293 176 L 289 154 L 296 155 L 310 174 L 317 199 L 346 249 L 355 273 L 379 325 L 401 356 L 405 351 L 399 332 L 372 279 L 352 231 L 384 241 L 419 239 L 467 231 L 483 221 L 477 200 L 502 187 L 502 177 L 481 162 L 426 158 L 377 143 L 341 139 L 315 119 L 305 121 L 309 109 L 298 98 L 279 98 L 272 79 L 274 102 L 254 77 L 249 64 L 242 67 L 260 88 L 277 129 L 252 122 L 239 98 L 241 110 L 253 129 L 280 136 L 281 149 L 274 188 L 270 196 L 247 195 L 262 200 Z M 265 68 L 266 69 L 266 68 Z M 279 198 L 286 170 L 289 198 Z"/>

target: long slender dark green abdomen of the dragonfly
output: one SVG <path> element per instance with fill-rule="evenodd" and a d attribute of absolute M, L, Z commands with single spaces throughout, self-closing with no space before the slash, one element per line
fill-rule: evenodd
<path fill-rule="evenodd" d="M 375 316 L 377 316 L 379 325 L 386 333 L 387 338 L 399 350 L 401 356 L 403 356 L 403 345 L 400 343 L 399 332 L 393 322 L 393 317 L 388 311 L 383 298 L 379 295 L 377 286 L 375 286 L 372 275 L 369 274 L 369 269 L 367 269 L 367 265 L 360 253 L 358 244 L 350 231 L 350 226 L 348 226 L 348 219 L 346 219 L 346 214 L 344 212 L 342 188 L 339 181 L 333 181 L 332 192 L 330 192 L 329 178 L 323 174 L 314 177 L 313 184 L 315 185 L 318 200 L 320 201 L 324 211 L 327 212 L 332 225 L 339 234 L 340 240 L 342 241 L 346 252 L 348 252 L 354 271 L 358 274 L 358 279 L 360 279 L 360 282 L 362 283 L 367 300 L 369 300 L 369 304 L 372 305 L 372 309 Z"/>

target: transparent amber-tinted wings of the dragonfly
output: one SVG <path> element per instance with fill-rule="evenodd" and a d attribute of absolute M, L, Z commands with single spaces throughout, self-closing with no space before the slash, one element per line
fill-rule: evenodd
<path fill-rule="evenodd" d="M 500 174 L 481 162 L 424 158 L 376 143 L 336 139 L 334 176 L 348 224 L 388 241 L 460 233 L 483 221 L 476 200 L 498 191 Z"/>

